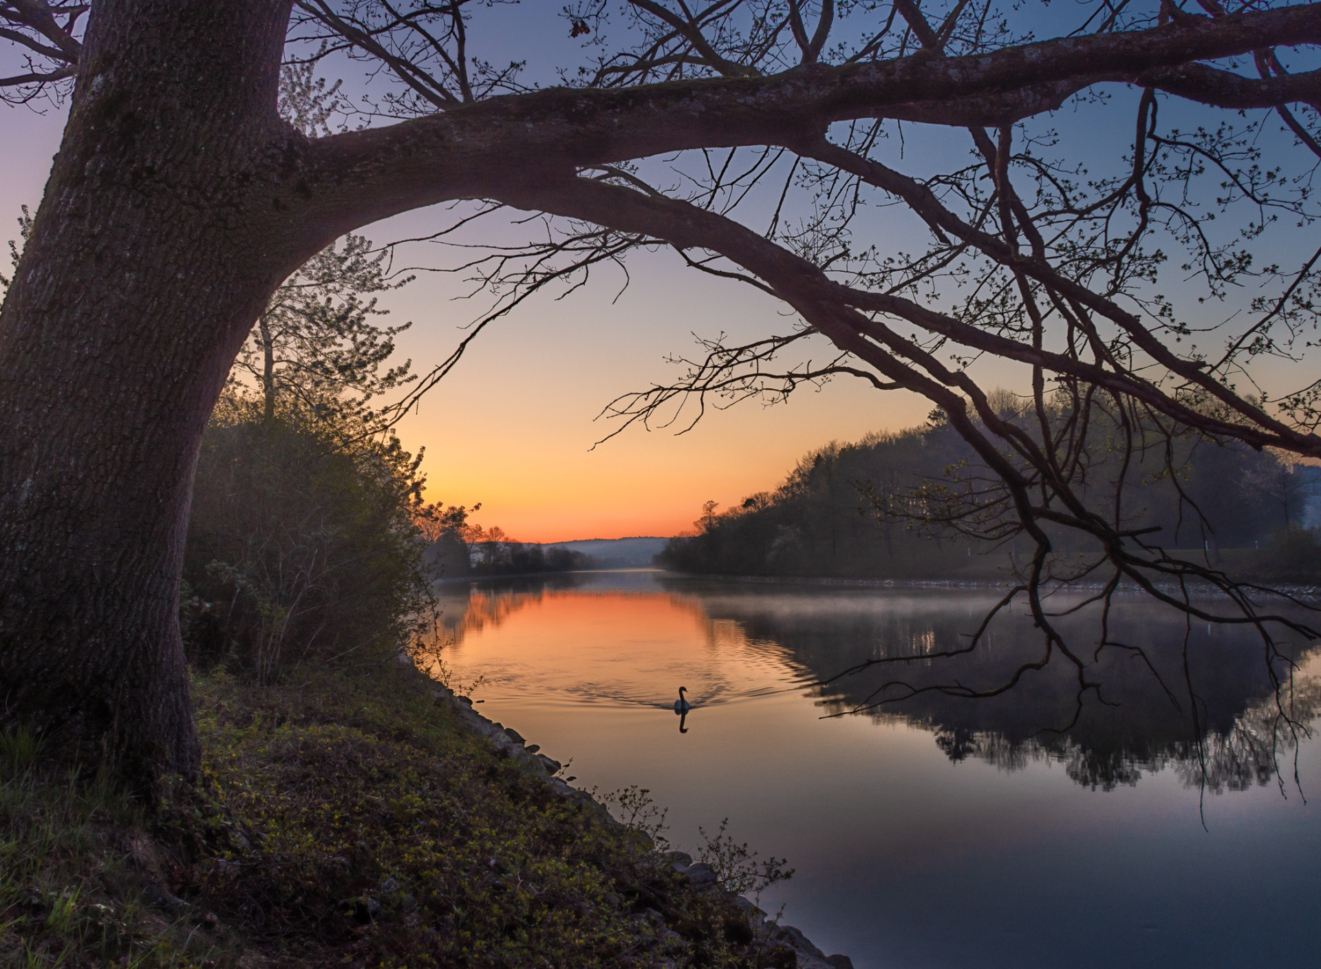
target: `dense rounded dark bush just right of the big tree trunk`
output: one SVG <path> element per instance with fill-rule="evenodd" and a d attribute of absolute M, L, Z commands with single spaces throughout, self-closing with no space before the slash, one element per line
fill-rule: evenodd
<path fill-rule="evenodd" d="M 202 442 L 184 566 L 194 661 L 259 682 L 394 652 L 429 615 L 421 455 L 392 435 L 227 395 Z"/>

